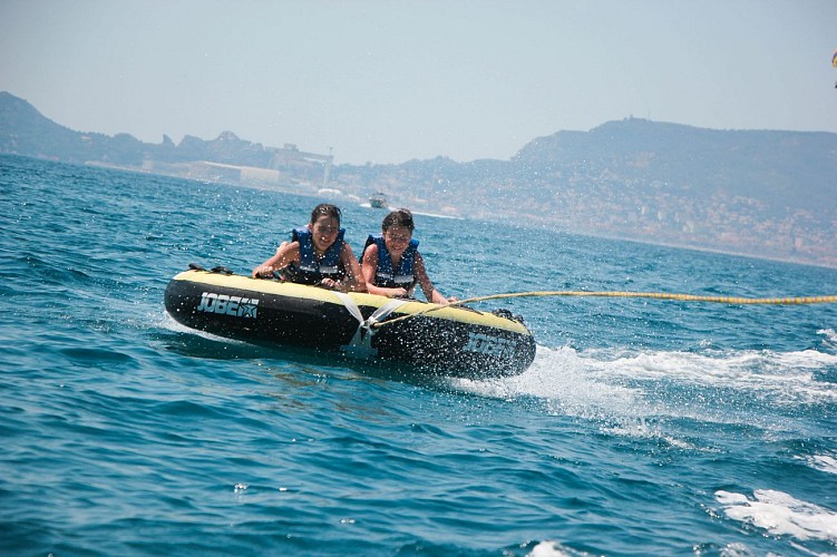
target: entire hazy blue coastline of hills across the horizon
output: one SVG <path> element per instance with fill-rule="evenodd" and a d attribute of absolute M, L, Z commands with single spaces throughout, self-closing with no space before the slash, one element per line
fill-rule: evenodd
<path fill-rule="evenodd" d="M 315 195 L 328 185 L 347 203 L 381 190 L 390 205 L 430 213 L 837 266 L 837 134 L 627 118 L 534 139 L 510 160 L 331 166 L 312 154 L 298 164 L 294 149 L 231 131 L 179 145 L 74 131 L 0 92 L 0 153 L 177 175 L 195 160 L 272 167 L 281 182 L 270 187 Z"/>

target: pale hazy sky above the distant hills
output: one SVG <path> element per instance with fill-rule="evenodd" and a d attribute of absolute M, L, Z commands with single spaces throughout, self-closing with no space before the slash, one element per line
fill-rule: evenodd
<path fill-rule="evenodd" d="M 0 0 L 0 90 L 81 131 L 508 159 L 629 116 L 837 131 L 837 0 Z"/>

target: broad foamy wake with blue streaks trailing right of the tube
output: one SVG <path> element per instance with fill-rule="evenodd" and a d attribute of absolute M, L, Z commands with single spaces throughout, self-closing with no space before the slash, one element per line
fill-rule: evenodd
<path fill-rule="evenodd" d="M 788 416 L 837 404 L 837 354 L 537 346 L 520 375 L 450 382 L 465 392 L 536 401 L 552 414 L 626 428 L 626 434 L 636 434 L 638 423 L 642 430 L 649 419 L 739 424 L 753 413 L 763 417 L 762 426 L 781 429 Z"/>

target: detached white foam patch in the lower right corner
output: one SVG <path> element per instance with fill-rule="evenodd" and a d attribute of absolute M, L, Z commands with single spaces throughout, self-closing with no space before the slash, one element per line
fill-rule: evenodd
<path fill-rule="evenodd" d="M 757 489 L 749 498 L 721 490 L 714 496 L 728 517 L 762 528 L 772 536 L 837 541 L 837 514 L 786 492 Z"/>

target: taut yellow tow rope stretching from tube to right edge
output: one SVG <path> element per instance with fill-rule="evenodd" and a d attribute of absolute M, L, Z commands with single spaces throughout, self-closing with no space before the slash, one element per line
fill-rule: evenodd
<path fill-rule="evenodd" d="M 799 305 L 799 304 L 829 304 L 837 302 L 837 295 L 825 296 L 797 296 L 797 297 L 741 297 L 741 296 L 699 296 L 695 294 L 671 294 L 665 292 L 619 292 L 619 291 L 583 291 L 583 290 L 557 290 L 535 292 L 509 292 L 506 294 L 489 294 L 475 296 L 467 300 L 457 300 L 448 305 L 432 305 L 427 310 L 409 315 L 401 315 L 388 321 L 372 324 L 372 328 L 383 326 L 418 315 L 424 315 L 444 307 L 454 307 L 487 300 L 503 300 L 509 297 L 545 297 L 545 296 L 576 296 L 576 297 L 646 297 L 652 300 L 677 300 L 681 302 L 709 302 L 717 304 L 762 304 L 762 305 Z"/>

